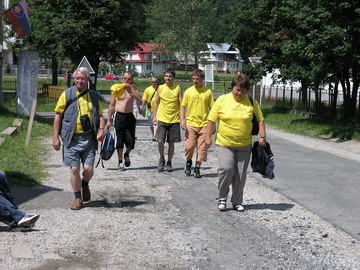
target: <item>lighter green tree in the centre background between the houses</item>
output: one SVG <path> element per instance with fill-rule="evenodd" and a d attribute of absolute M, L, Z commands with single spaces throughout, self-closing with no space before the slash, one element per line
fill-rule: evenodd
<path fill-rule="evenodd" d="M 190 56 L 198 65 L 200 52 L 210 40 L 209 27 L 215 9 L 209 0 L 154 0 L 148 8 L 153 40 L 178 52 L 187 64 Z"/>

